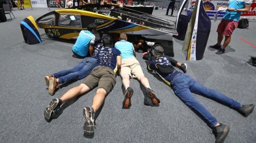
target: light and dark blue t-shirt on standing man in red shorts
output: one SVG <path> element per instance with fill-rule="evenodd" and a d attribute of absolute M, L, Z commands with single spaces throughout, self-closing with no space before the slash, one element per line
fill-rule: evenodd
<path fill-rule="evenodd" d="M 253 0 L 229 0 L 228 8 L 242 9 L 244 5 L 251 5 Z M 242 12 L 229 12 L 226 11 L 223 19 L 239 21 Z"/>

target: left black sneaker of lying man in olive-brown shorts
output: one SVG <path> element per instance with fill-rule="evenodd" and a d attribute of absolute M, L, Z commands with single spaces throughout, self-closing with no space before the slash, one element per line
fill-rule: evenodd
<path fill-rule="evenodd" d="M 49 106 L 47 106 L 47 108 L 45 108 L 43 112 L 43 116 L 45 116 L 45 120 L 49 121 L 51 119 L 51 116 L 54 114 L 55 111 L 57 111 L 57 109 L 60 108 L 60 106 L 61 106 L 60 99 L 57 99 L 57 98 L 52 99 Z"/>

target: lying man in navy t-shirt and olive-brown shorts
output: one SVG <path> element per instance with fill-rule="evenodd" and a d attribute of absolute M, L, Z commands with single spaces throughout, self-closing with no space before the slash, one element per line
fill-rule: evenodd
<path fill-rule="evenodd" d="M 96 94 L 92 101 L 92 106 L 85 106 L 83 115 L 85 123 L 83 126 L 84 136 L 93 138 L 94 135 L 94 113 L 104 103 L 105 97 L 114 88 L 116 84 L 116 71 L 121 66 L 121 52 L 113 48 L 113 40 L 109 35 L 102 37 L 103 48 L 97 53 L 97 66 L 85 78 L 79 86 L 69 89 L 60 99 L 52 99 L 49 106 L 45 108 L 43 114 L 46 121 L 52 119 L 53 114 L 61 105 L 73 98 L 87 93 L 98 86 Z"/>

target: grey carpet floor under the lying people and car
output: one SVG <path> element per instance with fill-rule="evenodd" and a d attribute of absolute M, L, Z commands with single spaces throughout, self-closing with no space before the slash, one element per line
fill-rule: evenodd
<path fill-rule="evenodd" d="M 28 8 L 27 8 L 28 9 Z M 130 142 L 130 143 L 208 143 L 214 142 L 211 129 L 193 111 L 175 96 L 170 87 L 146 70 L 142 54 L 137 54 L 150 86 L 161 99 L 159 107 L 145 106 L 144 88 L 135 79 L 131 87 L 135 93 L 130 109 L 122 109 L 121 78 L 106 97 L 96 119 L 94 138 L 83 137 L 83 108 L 92 104 L 96 89 L 65 103 L 58 112 L 59 118 L 47 123 L 43 110 L 51 99 L 59 98 L 83 80 L 59 89 L 50 96 L 44 76 L 74 67 L 80 59 L 72 57 L 74 42 L 49 39 L 40 29 L 42 44 L 24 43 L 19 22 L 29 15 L 35 19 L 49 12 L 48 8 L 14 11 L 16 19 L 0 23 L 0 142 Z M 153 15 L 164 16 L 165 10 L 154 10 Z M 176 12 L 174 13 L 176 15 Z M 9 18 L 9 15 L 6 15 Z M 236 29 L 226 53 L 216 55 L 209 45 L 216 43 L 216 28 L 220 20 L 212 21 L 208 44 L 201 61 L 186 61 L 182 41 L 173 39 L 174 58 L 188 65 L 187 74 L 206 87 L 227 94 L 242 104 L 256 103 L 256 67 L 245 64 L 256 49 L 243 38 L 256 45 L 256 23 L 249 29 Z M 166 35 L 168 36 L 168 35 Z M 165 36 L 165 37 L 166 37 Z M 169 36 L 172 40 L 172 37 Z M 230 126 L 226 143 L 256 142 L 256 112 L 244 118 L 236 111 L 210 99 L 194 94 L 220 123 Z"/>

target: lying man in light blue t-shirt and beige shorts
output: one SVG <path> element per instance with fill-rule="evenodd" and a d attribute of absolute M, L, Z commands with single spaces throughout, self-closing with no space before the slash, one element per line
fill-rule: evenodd
<path fill-rule="evenodd" d="M 130 108 L 131 96 L 133 95 L 133 89 L 130 87 L 130 77 L 137 78 L 138 81 L 146 89 L 147 97 L 151 99 L 151 103 L 147 103 L 147 99 L 144 100 L 145 105 L 159 106 L 160 100 L 157 98 L 154 91 L 149 86 L 149 80 L 144 76 L 140 63 L 135 58 L 136 52 L 133 44 L 127 41 L 127 35 L 121 33 L 119 37 L 120 41 L 116 42 L 115 48 L 120 50 L 122 55 L 122 64 L 119 70 L 119 74 L 122 77 L 123 86 L 125 87 L 125 99 L 123 100 L 123 108 Z"/>

